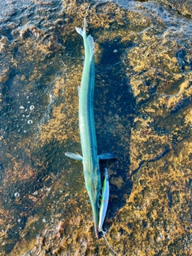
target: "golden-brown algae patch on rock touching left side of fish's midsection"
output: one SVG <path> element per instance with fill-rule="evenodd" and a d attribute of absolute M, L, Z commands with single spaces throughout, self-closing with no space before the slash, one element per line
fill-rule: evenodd
<path fill-rule="evenodd" d="M 62 97 L 62 102 L 54 106 L 52 118 L 49 122 L 40 127 L 40 141 L 42 145 L 51 140 L 66 142 L 69 138 L 74 142 L 79 142 L 78 136 L 78 90 L 77 84 L 80 82 L 80 76 L 75 74 L 78 67 L 71 67 L 74 70 L 74 76 L 71 73 L 69 78 L 58 78 L 54 84 L 54 96 Z M 76 100 L 75 100 L 76 99 Z M 76 129 L 74 130 L 74 127 Z"/>

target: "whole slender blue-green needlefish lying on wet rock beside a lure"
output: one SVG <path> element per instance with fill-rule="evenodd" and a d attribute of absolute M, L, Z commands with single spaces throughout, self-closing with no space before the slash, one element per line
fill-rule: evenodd
<path fill-rule="evenodd" d="M 83 174 L 91 207 L 94 215 L 94 230 L 98 238 L 98 204 L 101 190 L 101 174 L 99 159 L 115 158 L 114 154 L 98 155 L 96 134 L 94 127 L 94 39 L 86 35 L 86 19 L 83 28 L 75 28 L 83 38 L 85 60 L 82 71 L 81 87 L 78 87 L 78 122 L 82 145 L 82 156 L 66 152 L 66 156 L 82 161 Z"/>

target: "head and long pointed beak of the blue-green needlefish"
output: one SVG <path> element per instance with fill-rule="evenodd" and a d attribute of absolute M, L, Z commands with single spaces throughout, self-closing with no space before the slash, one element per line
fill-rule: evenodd
<path fill-rule="evenodd" d="M 96 237 L 98 238 L 98 202 L 99 202 L 99 194 L 101 190 L 101 175 L 98 170 L 96 173 L 92 172 L 86 173 L 84 172 L 85 182 L 86 182 L 86 190 L 90 198 L 90 204 L 92 207 L 93 215 L 94 215 L 94 230 Z"/>

